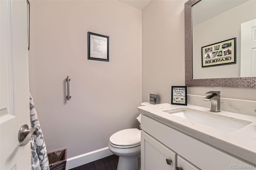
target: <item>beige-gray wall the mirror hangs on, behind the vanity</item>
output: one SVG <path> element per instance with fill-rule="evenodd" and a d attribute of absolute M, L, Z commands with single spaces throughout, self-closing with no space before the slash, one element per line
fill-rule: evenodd
<path fill-rule="evenodd" d="M 142 12 L 142 101 L 158 93 L 161 103 L 170 103 L 171 86 L 185 85 L 185 2 L 152 1 Z M 214 90 L 224 98 L 256 101 L 256 89 L 248 88 L 188 87 L 188 94 Z"/>

